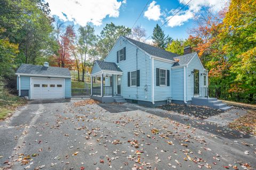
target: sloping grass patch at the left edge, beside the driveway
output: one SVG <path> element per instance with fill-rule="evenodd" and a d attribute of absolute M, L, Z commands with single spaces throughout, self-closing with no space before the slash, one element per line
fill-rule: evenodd
<path fill-rule="evenodd" d="M 5 119 L 18 106 L 26 104 L 26 100 L 9 94 L 6 90 L 0 91 L 0 120 Z"/>

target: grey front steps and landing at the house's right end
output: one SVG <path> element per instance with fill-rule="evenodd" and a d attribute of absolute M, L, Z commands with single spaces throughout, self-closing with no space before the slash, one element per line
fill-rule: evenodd
<path fill-rule="evenodd" d="M 222 103 L 222 101 L 218 100 L 217 98 L 192 98 L 191 104 L 197 106 L 208 106 L 214 109 L 220 109 L 222 111 L 232 108 L 226 103 Z"/>

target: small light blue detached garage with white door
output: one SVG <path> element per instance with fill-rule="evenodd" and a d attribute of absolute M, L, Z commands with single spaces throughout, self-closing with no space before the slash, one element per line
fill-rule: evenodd
<path fill-rule="evenodd" d="M 19 96 L 29 99 L 71 98 L 71 75 L 68 68 L 21 64 L 17 72 Z"/>

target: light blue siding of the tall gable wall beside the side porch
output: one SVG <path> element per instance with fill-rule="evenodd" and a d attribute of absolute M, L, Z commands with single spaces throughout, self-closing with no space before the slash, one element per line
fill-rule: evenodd
<path fill-rule="evenodd" d="M 116 63 L 117 66 L 123 71 L 121 76 L 121 95 L 125 99 L 151 101 L 151 60 L 149 56 L 139 50 L 138 48 L 138 68 L 136 60 L 136 49 L 137 46 L 132 45 L 126 39 L 119 38 L 117 43 L 114 45 L 112 50 L 109 52 L 105 61 L 116 63 L 116 52 L 126 47 L 126 60 Z M 127 72 L 140 70 L 140 86 L 139 87 L 128 87 L 127 85 Z M 147 98 L 145 93 L 145 85 L 148 86 Z M 114 76 L 114 94 L 116 94 L 116 76 Z"/>

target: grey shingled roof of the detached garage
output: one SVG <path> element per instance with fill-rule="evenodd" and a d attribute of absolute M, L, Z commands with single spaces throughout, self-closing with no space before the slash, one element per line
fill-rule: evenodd
<path fill-rule="evenodd" d="M 44 67 L 33 64 L 21 64 L 21 66 L 16 71 L 16 75 L 42 75 L 42 76 L 57 76 L 57 77 L 71 77 L 68 68 L 60 67 Z"/>

